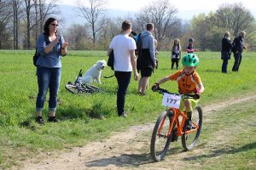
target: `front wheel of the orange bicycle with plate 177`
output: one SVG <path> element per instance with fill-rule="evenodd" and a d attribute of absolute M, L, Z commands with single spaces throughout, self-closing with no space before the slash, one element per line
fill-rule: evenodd
<path fill-rule="evenodd" d="M 165 111 L 163 112 L 158 120 L 155 122 L 154 130 L 152 133 L 151 144 L 150 144 L 150 155 L 154 161 L 160 161 L 166 155 L 166 151 L 172 141 L 172 135 L 174 131 L 167 136 L 169 128 L 171 126 L 173 117 L 173 112 Z M 175 127 L 173 125 L 172 129 Z"/>

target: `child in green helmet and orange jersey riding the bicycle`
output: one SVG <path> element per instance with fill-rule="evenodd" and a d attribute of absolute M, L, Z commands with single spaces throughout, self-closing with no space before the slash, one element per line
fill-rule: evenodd
<path fill-rule="evenodd" d="M 178 92 L 180 94 L 195 94 L 194 99 L 182 99 L 179 110 L 186 111 L 188 119 L 185 122 L 186 129 L 192 128 L 192 109 L 197 105 L 201 94 L 204 91 L 204 86 L 201 82 L 201 78 L 195 71 L 199 64 L 199 59 L 196 54 L 186 54 L 182 59 L 183 70 L 177 71 L 176 73 L 160 79 L 155 82 L 152 90 L 156 91 L 161 83 L 169 80 L 177 81 Z"/>

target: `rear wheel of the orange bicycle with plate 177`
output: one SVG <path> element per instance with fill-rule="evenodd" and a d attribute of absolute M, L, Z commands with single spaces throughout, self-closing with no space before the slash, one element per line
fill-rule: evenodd
<path fill-rule="evenodd" d="M 196 106 L 192 112 L 192 130 L 186 134 L 185 128 L 183 128 L 182 144 L 184 150 L 192 150 L 199 139 L 202 127 L 202 111 L 200 106 Z"/>

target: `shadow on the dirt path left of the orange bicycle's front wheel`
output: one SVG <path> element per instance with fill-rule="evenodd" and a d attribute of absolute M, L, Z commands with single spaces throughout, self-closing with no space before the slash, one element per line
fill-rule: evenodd
<path fill-rule="evenodd" d="M 86 162 L 85 167 L 108 167 L 109 165 L 115 165 L 116 167 L 138 167 L 152 162 L 154 161 L 152 161 L 148 154 L 123 154 L 121 156 L 112 156 Z"/>

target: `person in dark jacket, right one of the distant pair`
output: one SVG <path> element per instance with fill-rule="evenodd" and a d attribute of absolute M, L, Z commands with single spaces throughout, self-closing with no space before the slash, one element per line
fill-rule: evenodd
<path fill-rule="evenodd" d="M 235 63 L 233 65 L 232 71 L 239 70 L 239 66 L 241 64 L 241 53 L 243 49 L 246 49 L 243 45 L 243 40 L 245 36 L 246 36 L 246 32 L 241 31 L 233 41 L 233 45 L 234 45 L 233 53 L 234 53 Z"/>

